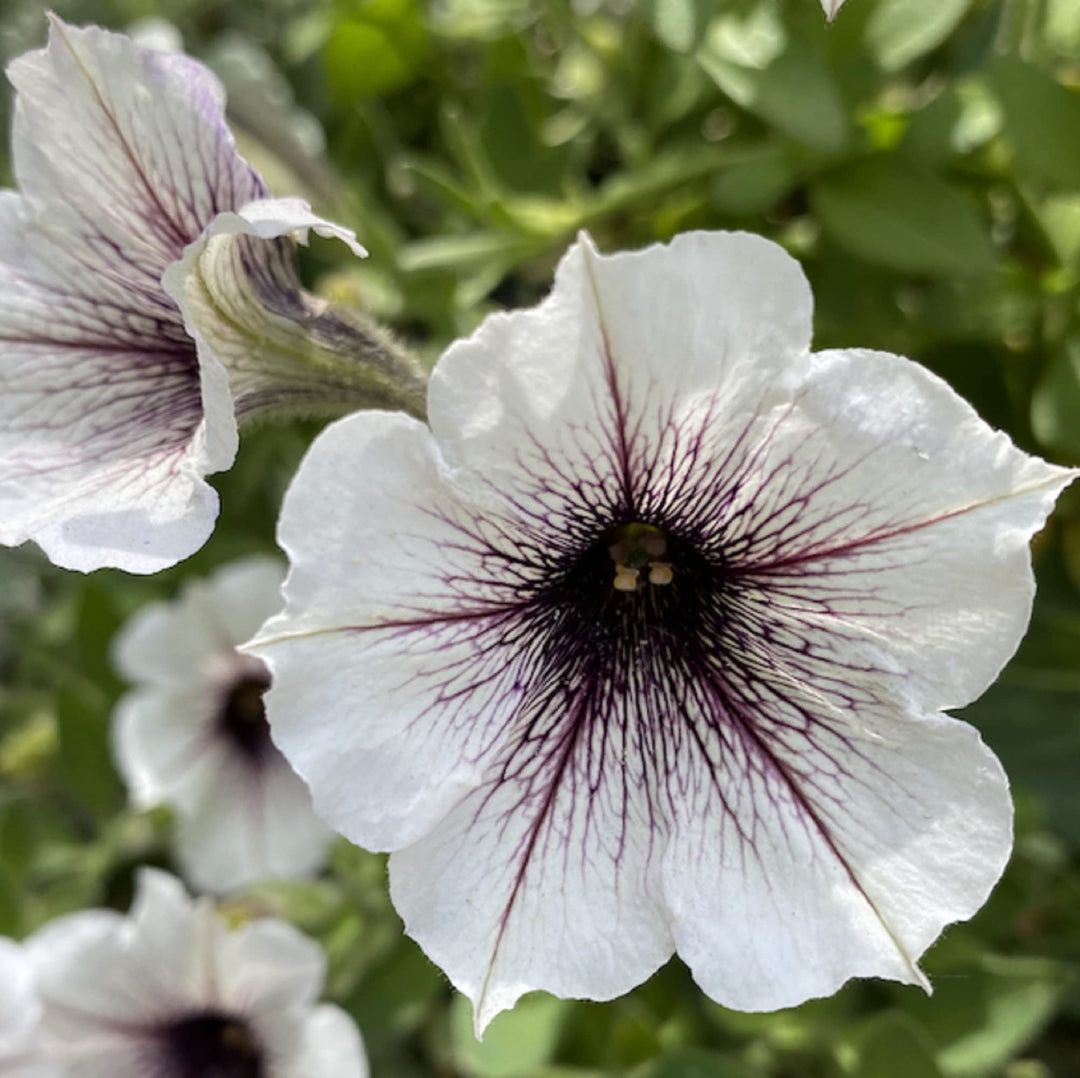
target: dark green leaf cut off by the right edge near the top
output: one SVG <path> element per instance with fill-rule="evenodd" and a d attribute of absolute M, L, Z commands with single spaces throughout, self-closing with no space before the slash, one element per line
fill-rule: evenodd
<path fill-rule="evenodd" d="M 1021 167 L 1054 186 L 1080 188 L 1080 93 L 1014 56 L 997 59 L 990 78 Z"/>

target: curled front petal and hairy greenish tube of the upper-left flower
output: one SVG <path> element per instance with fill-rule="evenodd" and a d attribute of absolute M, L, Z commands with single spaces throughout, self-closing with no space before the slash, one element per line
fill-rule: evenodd
<path fill-rule="evenodd" d="M 389 338 L 303 291 L 294 242 L 355 234 L 299 199 L 267 199 L 217 216 L 164 274 L 203 367 L 225 367 L 241 421 L 339 414 L 348 407 L 423 409 L 423 380 Z"/>

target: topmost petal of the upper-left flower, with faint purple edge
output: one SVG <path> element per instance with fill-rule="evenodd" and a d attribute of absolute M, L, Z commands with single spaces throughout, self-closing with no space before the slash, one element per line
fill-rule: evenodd
<path fill-rule="evenodd" d="M 201 64 L 53 18 L 48 48 L 14 60 L 15 174 L 35 201 L 67 205 L 154 282 L 220 212 L 265 194 Z"/>

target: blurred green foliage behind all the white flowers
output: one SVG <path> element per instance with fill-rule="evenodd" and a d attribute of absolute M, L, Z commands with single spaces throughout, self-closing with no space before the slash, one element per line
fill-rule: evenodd
<path fill-rule="evenodd" d="M 226 81 L 276 193 L 308 197 L 370 250 L 361 264 L 316 246 L 313 286 L 429 361 L 488 310 L 539 298 L 580 228 L 605 250 L 750 229 L 806 267 L 819 347 L 910 355 L 1024 448 L 1080 463 L 1076 0 L 848 0 L 829 27 L 816 0 L 53 6 L 174 24 Z M 3 0 L 0 53 L 40 44 L 42 12 Z M 109 760 L 123 688 L 110 641 L 188 576 L 274 549 L 314 430 L 248 432 L 217 482 L 217 531 L 172 571 L 83 577 L 29 547 L 0 557 L 0 932 L 126 907 L 133 870 L 168 863 L 167 812 L 130 811 Z M 927 956 L 932 998 L 865 981 L 739 1014 L 675 960 L 610 1003 L 527 997 L 478 1045 L 468 1003 L 402 935 L 381 858 L 341 843 L 318 880 L 229 905 L 325 944 L 328 992 L 376 1078 L 1080 1075 L 1080 490 L 1035 556 L 1027 641 L 964 712 L 1013 780 L 1015 855 Z"/>

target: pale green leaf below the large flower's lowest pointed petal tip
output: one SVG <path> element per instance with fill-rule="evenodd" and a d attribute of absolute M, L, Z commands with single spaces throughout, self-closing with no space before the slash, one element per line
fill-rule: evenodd
<path fill-rule="evenodd" d="M 477 1040 L 472 1005 L 456 996 L 450 1009 L 450 1040 L 458 1068 L 475 1078 L 527 1078 L 552 1061 L 569 1003 L 541 993 L 525 996 L 504 1011 Z"/>

